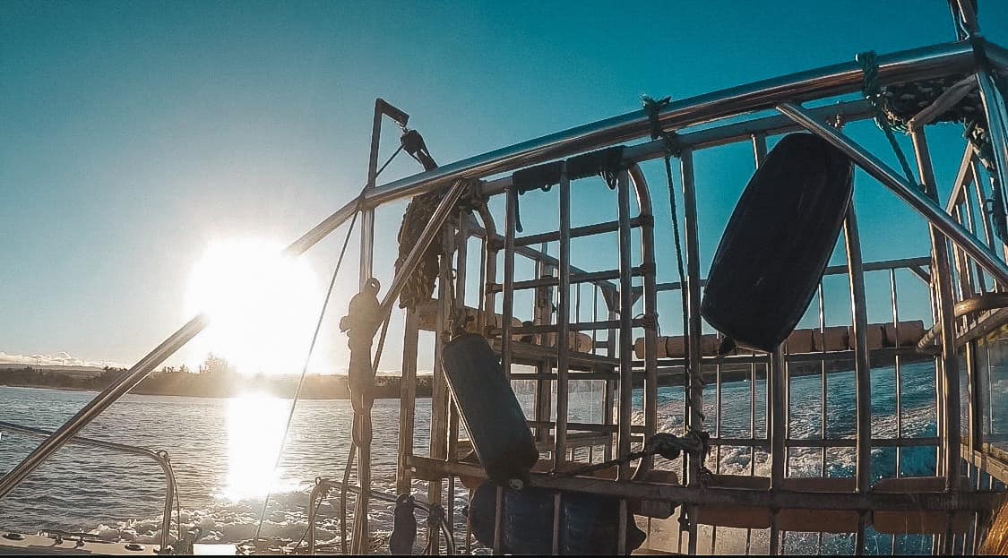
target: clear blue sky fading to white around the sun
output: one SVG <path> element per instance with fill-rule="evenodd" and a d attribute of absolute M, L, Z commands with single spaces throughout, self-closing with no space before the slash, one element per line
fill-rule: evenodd
<path fill-rule="evenodd" d="M 982 1 L 980 12 L 984 34 L 1008 43 L 1008 2 Z M 210 244 L 286 244 L 355 195 L 376 97 L 410 113 L 447 163 L 634 110 L 641 94 L 684 98 L 862 50 L 954 38 L 944 0 L 7 0 L 0 351 L 135 362 L 187 319 L 190 277 Z M 960 130 L 932 143 L 951 145 Z M 388 153 L 395 130 L 385 131 Z M 871 124 L 851 132 L 893 160 Z M 746 146 L 698 156 L 705 268 L 751 172 L 748 156 Z M 959 156 L 935 156 L 946 194 Z M 416 170 L 404 159 L 380 182 Z M 660 163 L 647 170 L 659 278 L 674 280 Z M 576 194 L 576 221 L 611 207 L 606 191 L 586 192 Z M 892 194 L 862 175 L 856 200 L 866 260 L 926 254 L 922 221 Z M 379 215 L 376 274 L 386 284 L 403 205 Z M 548 207 L 555 205 L 525 202 L 523 218 L 544 219 Z M 307 257 L 320 286 L 336 237 L 342 233 Z M 356 251 L 348 256 L 354 262 Z M 605 251 L 575 256 L 590 269 L 616 264 Z M 324 329 L 321 351 L 336 368 L 345 341 L 333 325 L 356 290 L 355 268 L 341 278 Z M 674 303 L 662 299 L 665 331 L 677 329 Z M 397 337 L 393 327 L 383 368 L 398 366 Z M 206 348 L 180 359 L 198 360 Z"/>

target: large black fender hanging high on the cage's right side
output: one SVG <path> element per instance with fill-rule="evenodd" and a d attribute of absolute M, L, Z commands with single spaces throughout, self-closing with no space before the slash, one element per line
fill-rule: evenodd
<path fill-rule="evenodd" d="M 753 174 L 711 264 L 701 314 L 737 343 L 771 352 L 818 285 L 853 190 L 853 164 L 811 134 L 785 136 Z"/>

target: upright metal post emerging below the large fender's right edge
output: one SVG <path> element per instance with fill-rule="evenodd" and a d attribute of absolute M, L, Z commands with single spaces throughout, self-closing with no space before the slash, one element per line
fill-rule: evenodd
<path fill-rule="evenodd" d="M 847 250 L 848 275 L 851 282 L 851 315 L 854 317 L 854 377 L 857 441 L 855 459 L 856 492 L 867 494 L 872 482 L 872 369 L 868 358 L 868 309 L 865 302 L 865 273 L 861 261 L 861 239 L 854 200 L 844 220 L 844 245 Z M 865 552 L 866 513 L 859 512 L 858 533 L 854 553 Z"/>

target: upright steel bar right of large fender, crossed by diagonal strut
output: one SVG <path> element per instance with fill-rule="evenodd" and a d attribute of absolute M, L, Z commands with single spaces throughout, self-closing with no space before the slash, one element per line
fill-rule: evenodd
<path fill-rule="evenodd" d="M 923 130 L 911 132 L 913 151 L 917 159 L 917 171 L 927 191 L 937 198 L 937 183 L 931 167 L 930 152 L 927 149 L 927 139 Z M 960 482 L 960 383 L 959 360 L 956 355 L 956 316 L 952 306 L 952 285 L 949 273 L 949 248 L 946 239 L 937 234 L 936 227 L 931 228 L 931 244 L 934 256 L 934 272 L 931 274 L 935 282 L 937 315 L 941 323 L 941 372 L 943 377 L 943 409 L 941 424 L 944 430 L 943 453 L 946 490 L 959 491 Z"/>

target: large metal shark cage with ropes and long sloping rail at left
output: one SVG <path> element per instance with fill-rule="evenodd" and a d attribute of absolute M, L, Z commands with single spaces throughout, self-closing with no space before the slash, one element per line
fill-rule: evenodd
<path fill-rule="evenodd" d="M 645 99 L 444 166 L 379 100 L 367 186 L 288 248 L 359 221 L 362 290 L 341 324 L 356 480 L 349 467 L 319 479 L 307 545 L 288 551 L 372 551 L 374 501 L 395 507 L 393 553 L 413 550 L 416 509 L 430 554 L 978 551 L 1008 481 L 1008 50 L 983 38 L 971 2 L 952 5 L 953 42 Z M 425 170 L 378 184 L 386 118 Z M 872 120 L 899 168 L 845 132 Z M 928 131 L 950 123 L 966 128 L 960 146 L 932 152 Z M 697 168 L 739 146 L 752 178 L 724 230 L 702 228 L 713 218 L 698 192 L 738 190 Z M 938 156 L 960 161 L 952 183 L 935 179 Z M 647 183 L 649 165 L 667 184 Z M 863 240 L 901 233 L 859 231 L 856 173 L 858 191 L 894 194 L 925 219 L 929 253 L 863 260 Z M 652 195 L 670 202 L 670 221 Z M 375 210 L 409 197 L 379 297 Z M 838 239 L 844 263 L 830 266 Z M 706 276 L 702 246 L 718 247 Z M 677 280 L 659 282 L 659 269 Z M 369 389 L 396 301 L 387 495 L 372 487 Z M 52 432 L 0 480 L 0 498 L 206 322 Z M 416 414 L 422 343 L 429 425 Z M 352 532 L 320 545 L 313 511 L 334 491 L 354 495 Z"/>

